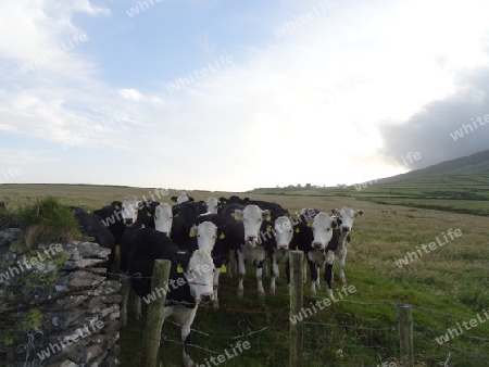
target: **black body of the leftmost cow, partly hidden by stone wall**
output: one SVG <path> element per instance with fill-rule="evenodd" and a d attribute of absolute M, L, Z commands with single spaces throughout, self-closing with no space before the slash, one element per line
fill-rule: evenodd
<path fill-rule="evenodd" d="M 82 233 L 93 238 L 95 242 L 102 248 L 110 249 L 109 260 L 102 264 L 106 273 L 111 273 L 115 257 L 115 239 L 110 230 L 103 225 L 102 219 L 82 207 L 73 207 L 73 215 L 79 224 Z"/>

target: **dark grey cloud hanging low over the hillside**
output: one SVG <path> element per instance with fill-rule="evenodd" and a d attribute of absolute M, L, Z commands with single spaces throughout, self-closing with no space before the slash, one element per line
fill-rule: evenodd
<path fill-rule="evenodd" d="M 489 115 L 489 68 L 464 72 L 456 79 L 455 93 L 427 103 L 403 124 L 380 128 L 386 160 L 401 162 L 409 152 L 419 152 L 422 159 L 409 167 L 414 169 L 489 148 L 489 123 L 484 122 Z"/>

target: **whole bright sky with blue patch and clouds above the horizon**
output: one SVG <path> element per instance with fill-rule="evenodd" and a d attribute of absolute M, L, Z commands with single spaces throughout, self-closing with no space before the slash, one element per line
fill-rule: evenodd
<path fill-rule="evenodd" d="M 489 1 L 16 0 L 0 185 L 353 185 L 489 149 Z"/>

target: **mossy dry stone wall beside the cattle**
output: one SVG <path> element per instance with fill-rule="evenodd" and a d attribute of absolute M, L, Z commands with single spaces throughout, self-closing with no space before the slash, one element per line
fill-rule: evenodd
<path fill-rule="evenodd" d="M 110 250 L 72 241 L 28 249 L 0 230 L 0 366 L 116 366 L 121 284 Z"/>

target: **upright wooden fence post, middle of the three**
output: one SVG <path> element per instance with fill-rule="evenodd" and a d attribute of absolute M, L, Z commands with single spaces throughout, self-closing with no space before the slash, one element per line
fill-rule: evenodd
<path fill-rule="evenodd" d="M 303 257 L 302 251 L 290 251 L 290 317 L 301 313 L 302 309 L 302 293 L 303 293 Z M 289 350 L 289 366 L 302 367 L 302 346 L 303 346 L 303 327 L 302 322 L 290 322 L 290 350 Z"/>

